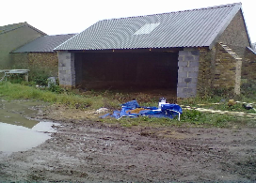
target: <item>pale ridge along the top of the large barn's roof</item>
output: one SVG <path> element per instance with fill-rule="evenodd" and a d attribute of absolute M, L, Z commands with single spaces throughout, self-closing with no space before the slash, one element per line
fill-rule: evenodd
<path fill-rule="evenodd" d="M 102 21 L 112 21 L 112 20 L 121 20 L 121 19 L 128 19 L 128 18 L 136 18 L 136 17 L 149 17 L 149 16 L 155 16 L 155 15 L 164 15 L 164 14 L 170 14 L 170 13 L 180 13 L 180 12 L 186 12 L 186 11 L 194 11 L 194 10 L 203 10 L 203 9 L 210 9 L 210 8 L 224 8 L 224 7 L 234 7 L 236 5 L 242 5 L 241 2 L 239 3 L 232 3 L 227 5 L 218 5 L 214 7 L 206 7 L 206 8 L 192 8 L 192 9 L 184 9 L 184 10 L 177 10 L 177 11 L 170 11 L 165 13 L 155 13 L 155 14 L 149 14 L 149 15 L 138 15 L 138 16 L 131 16 L 131 17 L 120 17 L 120 18 L 112 18 L 112 19 L 104 19 Z"/>

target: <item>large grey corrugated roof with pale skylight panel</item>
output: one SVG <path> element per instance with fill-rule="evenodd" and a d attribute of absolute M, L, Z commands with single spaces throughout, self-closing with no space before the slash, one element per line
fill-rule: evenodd
<path fill-rule="evenodd" d="M 55 50 L 211 47 L 241 3 L 100 21 Z"/>

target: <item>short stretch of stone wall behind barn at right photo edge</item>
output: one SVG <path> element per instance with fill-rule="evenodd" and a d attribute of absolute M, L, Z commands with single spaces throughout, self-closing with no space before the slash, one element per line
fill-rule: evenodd
<path fill-rule="evenodd" d="M 248 48 L 243 60 L 242 79 L 256 81 L 256 52 Z"/>

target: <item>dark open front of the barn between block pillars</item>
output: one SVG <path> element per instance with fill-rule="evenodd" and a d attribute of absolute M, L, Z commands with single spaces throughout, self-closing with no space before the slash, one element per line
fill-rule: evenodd
<path fill-rule="evenodd" d="M 77 87 L 177 91 L 178 52 L 75 53 L 74 63 Z"/>

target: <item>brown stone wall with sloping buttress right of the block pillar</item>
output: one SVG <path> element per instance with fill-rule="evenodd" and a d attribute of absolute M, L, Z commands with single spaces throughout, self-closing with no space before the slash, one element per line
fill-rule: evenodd
<path fill-rule="evenodd" d="M 232 90 L 240 94 L 242 60 L 235 59 L 218 43 L 209 50 L 200 48 L 197 95 L 207 96 L 214 90 Z"/>

